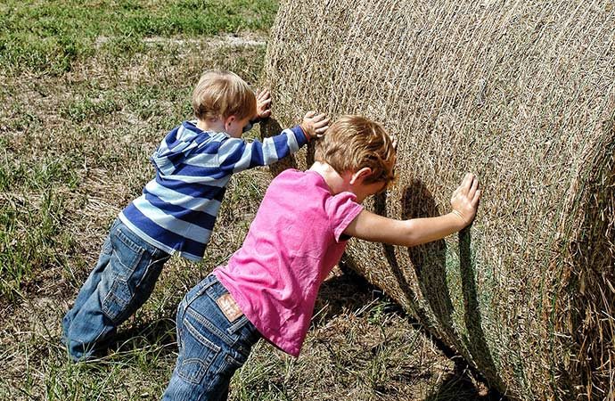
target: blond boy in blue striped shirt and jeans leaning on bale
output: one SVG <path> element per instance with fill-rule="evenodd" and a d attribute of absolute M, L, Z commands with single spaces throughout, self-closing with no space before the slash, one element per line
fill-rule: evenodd
<path fill-rule="evenodd" d="M 199 261 L 232 174 L 298 151 L 327 129 L 310 111 L 299 126 L 246 142 L 242 133 L 268 117 L 270 94 L 255 95 L 232 72 L 209 71 L 193 92 L 195 121 L 173 128 L 152 155 L 156 176 L 111 225 L 101 255 L 62 319 L 73 360 L 106 348 L 117 327 L 152 294 L 164 263 L 178 252 Z"/>

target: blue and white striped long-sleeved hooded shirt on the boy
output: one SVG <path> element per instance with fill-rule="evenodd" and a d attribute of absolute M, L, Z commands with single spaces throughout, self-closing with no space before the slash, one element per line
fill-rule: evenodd
<path fill-rule="evenodd" d="M 274 163 L 305 143 L 299 126 L 262 143 L 249 143 L 225 133 L 202 131 L 194 121 L 184 121 L 153 153 L 156 177 L 119 218 L 143 241 L 199 261 L 231 175 Z"/>

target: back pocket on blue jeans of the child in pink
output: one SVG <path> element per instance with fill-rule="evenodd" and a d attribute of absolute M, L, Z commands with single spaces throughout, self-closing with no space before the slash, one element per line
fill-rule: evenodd
<path fill-rule="evenodd" d="M 177 366 L 179 377 L 189 383 L 200 384 L 206 374 L 215 374 L 214 365 L 221 348 L 205 338 L 188 320 L 184 319 L 181 335 L 181 362 Z"/>

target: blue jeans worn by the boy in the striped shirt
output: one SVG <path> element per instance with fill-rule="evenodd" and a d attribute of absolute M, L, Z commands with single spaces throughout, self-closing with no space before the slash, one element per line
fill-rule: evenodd
<path fill-rule="evenodd" d="M 119 218 L 113 222 L 98 263 L 62 319 L 62 341 L 74 361 L 89 359 L 110 345 L 119 324 L 150 298 L 168 258 Z"/>

